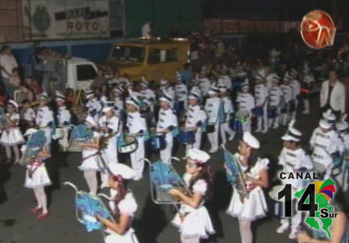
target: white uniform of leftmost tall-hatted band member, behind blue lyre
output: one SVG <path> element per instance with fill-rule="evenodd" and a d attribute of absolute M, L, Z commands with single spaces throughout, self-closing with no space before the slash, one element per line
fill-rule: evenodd
<path fill-rule="evenodd" d="M 46 149 L 48 152 L 51 151 L 52 128 L 50 125 L 53 122 L 53 112 L 49 109 L 49 107 L 40 107 L 36 114 L 36 125 L 39 126 L 39 130 L 45 132 Z"/>

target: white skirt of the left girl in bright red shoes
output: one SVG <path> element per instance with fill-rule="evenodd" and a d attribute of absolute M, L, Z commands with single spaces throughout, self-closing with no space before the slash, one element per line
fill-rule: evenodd
<path fill-rule="evenodd" d="M 32 177 L 29 178 L 29 170 L 30 170 L 30 168 L 32 170 L 34 170 L 35 167 L 36 166 L 33 166 L 31 168 L 31 165 L 27 165 L 27 172 L 25 173 L 24 187 L 34 189 L 34 188 L 37 188 L 37 187 L 44 187 L 44 186 L 51 185 L 52 183 L 51 183 L 51 180 L 49 178 L 49 175 L 47 174 L 46 167 L 45 167 L 44 163 L 39 165 L 37 167 L 37 169 L 34 171 L 34 173 L 32 174 Z"/>

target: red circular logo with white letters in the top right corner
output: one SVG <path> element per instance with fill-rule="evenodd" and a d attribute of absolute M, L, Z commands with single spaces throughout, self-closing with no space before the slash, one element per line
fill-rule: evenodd
<path fill-rule="evenodd" d="M 308 46 L 321 49 L 333 45 L 336 27 L 328 13 L 313 10 L 303 17 L 300 33 Z"/>

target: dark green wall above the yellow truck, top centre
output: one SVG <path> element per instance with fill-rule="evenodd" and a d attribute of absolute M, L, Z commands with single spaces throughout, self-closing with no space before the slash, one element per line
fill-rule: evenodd
<path fill-rule="evenodd" d="M 147 19 L 155 36 L 167 36 L 173 27 L 181 35 L 202 28 L 201 0 L 125 0 L 126 37 L 141 35 Z"/>

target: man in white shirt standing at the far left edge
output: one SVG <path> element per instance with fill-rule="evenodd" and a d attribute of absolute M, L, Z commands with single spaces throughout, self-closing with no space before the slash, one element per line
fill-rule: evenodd
<path fill-rule="evenodd" d="M 10 94 L 10 77 L 12 76 L 12 70 L 18 67 L 15 57 L 12 55 L 11 48 L 9 46 L 2 46 L 0 51 L 0 68 L 1 68 L 1 80 L 2 85 L 5 88 L 7 95 Z"/>

